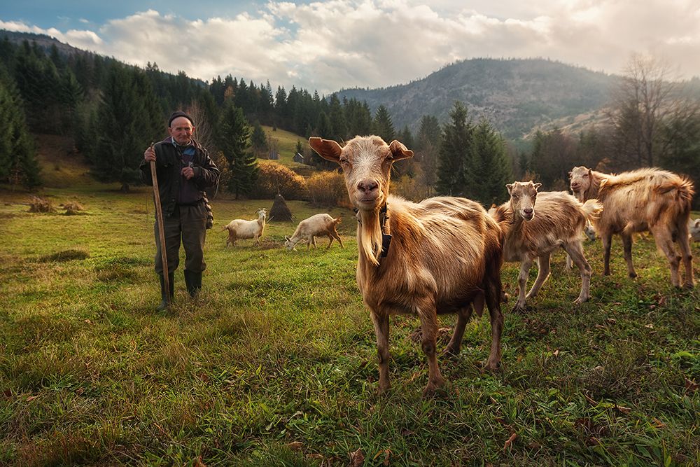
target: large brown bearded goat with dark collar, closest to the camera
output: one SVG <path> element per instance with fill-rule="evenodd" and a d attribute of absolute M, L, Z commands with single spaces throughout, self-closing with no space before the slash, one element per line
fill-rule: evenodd
<path fill-rule="evenodd" d="M 491 352 L 486 368 L 500 363 L 500 266 L 503 232 L 477 202 L 435 197 L 414 203 L 388 194 L 393 162 L 413 157 L 399 141 L 354 137 L 344 146 L 309 138 L 322 158 L 343 170 L 351 203 L 358 209 L 357 284 L 377 335 L 379 392 L 389 384 L 389 316 L 418 315 L 421 347 L 428 358 L 424 394 L 444 384 L 437 366 L 437 314 L 457 313 L 445 354 L 456 355 L 472 302 L 491 315 Z"/>

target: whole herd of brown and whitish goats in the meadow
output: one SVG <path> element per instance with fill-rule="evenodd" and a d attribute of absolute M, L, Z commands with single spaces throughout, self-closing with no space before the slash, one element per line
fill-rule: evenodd
<path fill-rule="evenodd" d="M 389 388 L 388 330 L 391 314 L 416 314 L 421 321 L 421 347 L 428 358 L 426 394 L 444 384 L 437 365 L 437 314 L 456 313 L 454 333 L 444 354 L 460 351 L 465 325 L 484 305 L 491 317 L 491 350 L 487 370 L 500 365 L 503 295 L 500 268 L 503 261 L 520 261 L 518 298 L 514 309 L 524 309 L 549 276 L 549 256 L 559 247 L 581 274 L 581 291 L 575 303 L 589 299 L 591 267 L 582 248 L 582 232 L 592 223 L 605 249 L 604 272 L 610 274 L 610 240 L 622 237 L 630 277 L 632 234 L 649 230 L 671 267 L 671 283 L 692 287 L 690 232 L 700 230 L 700 220 L 689 221 L 694 187 L 692 181 L 659 169 L 638 169 L 619 175 L 586 167 L 570 172 L 566 192 L 538 192 L 540 183 L 507 185 L 510 200 L 489 212 L 478 202 L 460 197 L 432 197 L 419 203 L 389 195 L 393 162 L 411 158 L 399 141 L 386 144 L 376 136 L 355 137 L 344 146 L 312 137 L 311 148 L 322 158 L 342 167 L 346 188 L 357 210 L 357 284 L 370 309 L 377 335 L 379 391 Z M 257 221 L 235 220 L 225 226 L 228 243 L 237 238 L 262 235 L 265 210 Z M 316 244 L 314 235 L 337 239 L 339 219 L 316 214 L 302 221 L 286 247 L 299 242 Z M 694 234 L 695 235 L 695 234 Z M 678 244 L 680 254 L 674 243 Z M 328 244 L 330 247 L 330 244 Z M 528 293 L 526 281 L 534 261 L 538 275 Z"/>

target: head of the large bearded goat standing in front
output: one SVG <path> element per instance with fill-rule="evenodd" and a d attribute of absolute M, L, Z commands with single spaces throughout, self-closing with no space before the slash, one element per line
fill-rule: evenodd
<path fill-rule="evenodd" d="M 342 167 L 350 201 L 360 211 L 376 211 L 386 202 L 391 165 L 413 157 L 413 151 L 399 141 L 386 144 L 376 136 L 354 137 L 342 147 L 314 137 L 309 138 L 309 145 L 322 158 Z"/>

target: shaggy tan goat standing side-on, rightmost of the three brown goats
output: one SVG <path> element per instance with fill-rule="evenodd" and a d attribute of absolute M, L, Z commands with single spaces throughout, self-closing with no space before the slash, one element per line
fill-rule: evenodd
<path fill-rule="evenodd" d="M 682 260 L 685 286 L 693 286 L 688 232 L 690 204 L 695 193 L 692 181 L 660 169 L 612 175 L 574 167 L 569 175 L 571 191 L 578 200 L 597 198 L 603 204 L 603 214 L 595 223 L 605 249 L 603 274 L 610 274 L 610 242 L 613 234 L 619 234 L 629 277 L 637 277 L 632 265 L 632 234 L 649 230 L 671 265 L 671 284 L 680 286 Z M 675 252 L 673 242 L 678 242 L 682 256 Z"/>

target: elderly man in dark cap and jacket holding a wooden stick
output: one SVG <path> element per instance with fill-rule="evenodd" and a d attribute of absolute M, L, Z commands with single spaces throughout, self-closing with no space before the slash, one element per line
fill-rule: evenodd
<path fill-rule="evenodd" d="M 179 264 L 181 241 L 185 248 L 185 284 L 190 296 L 194 297 L 202 288 L 202 271 L 207 267 L 204 263 L 207 207 L 202 191 L 216 186 L 219 170 L 209 158 L 207 150 L 193 139 L 194 132 L 192 117 L 183 111 L 173 112 L 168 119 L 170 136 L 146 149 L 139 167 L 143 181 L 152 185 L 151 161 L 155 160 L 163 210 L 170 298 L 173 296 L 174 273 Z M 155 223 L 154 230 L 155 243 L 158 245 L 155 272 L 160 275 L 162 298 L 157 310 L 162 311 L 167 308 L 170 300 L 165 293 L 158 222 Z"/>

